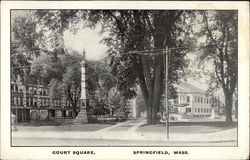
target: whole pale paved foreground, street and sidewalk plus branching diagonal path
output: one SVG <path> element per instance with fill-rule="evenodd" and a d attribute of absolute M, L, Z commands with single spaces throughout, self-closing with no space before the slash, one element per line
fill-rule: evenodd
<path fill-rule="evenodd" d="M 138 132 L 146 121 L 131 120 L 93 132 L 13 132 L 13 145 L 21 146 L 236 146 L 236 128 L 206 134 Z"/>

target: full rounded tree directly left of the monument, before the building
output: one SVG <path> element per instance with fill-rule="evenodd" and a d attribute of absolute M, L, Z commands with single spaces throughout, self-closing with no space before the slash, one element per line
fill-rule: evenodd
<path fill-rule="evenodd" d="M 54 61 L 53 55 L 41 54 L 31 65 L 32 77 L 43 79 L 50 89 L 52 99 L 65 97 L 72 104 L 73 117 L 77 114 L 80 99 L 81 69 L 83 57 L 77 53 L 63 54 Z"/>

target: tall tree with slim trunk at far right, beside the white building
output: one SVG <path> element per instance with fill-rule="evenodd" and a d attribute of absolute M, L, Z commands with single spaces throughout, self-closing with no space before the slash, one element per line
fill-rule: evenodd
<path fill-rule="evenodd" d="M 222 87 L 225 96 L 226 122 L 232 123 L 233 95 L 237 92 L 238 76 L 238 15 L 237 11 L 203 11 L 205 47 L 201 60 L 213 64 L 210 87 Z"/>

